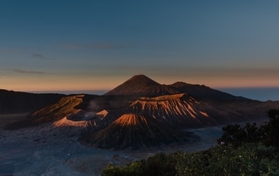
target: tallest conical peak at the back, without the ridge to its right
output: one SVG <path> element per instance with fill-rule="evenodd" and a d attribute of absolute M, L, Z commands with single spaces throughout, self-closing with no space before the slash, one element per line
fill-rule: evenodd
<path fill-rule="evenodd" d="M 113 90 L 110 90 L 110 92 L 106 93 L 105 95 L 158 96 L 176 93 L 179 92 L 169 88 L 168 86 L 161 85 L 149 77 L 139 74 L 128 79 L 128 81 L 122 83 Z"/>

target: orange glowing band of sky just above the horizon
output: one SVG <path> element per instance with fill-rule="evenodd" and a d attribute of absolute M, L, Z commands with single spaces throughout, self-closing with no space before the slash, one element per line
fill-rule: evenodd
<path fill-rule="evenodd" d="M 148 76 L 149 77 L 149 76 Z M 83 91 L 112 90 L 130 77 L 93 77 L 93 78 L 44 78 L 44 79 L 1 79 L 0 88 L 23 92 L 36 91 Z M 211 88 L 271 88 L 279 87 L 276 77 L 151 77 L 162 84 L 172 84 L 176 81 L 199 84 Z"/>

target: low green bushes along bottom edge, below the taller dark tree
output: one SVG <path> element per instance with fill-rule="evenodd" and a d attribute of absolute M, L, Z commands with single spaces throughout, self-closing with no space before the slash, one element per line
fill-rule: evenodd
<path fill-rule="evenodd" d="M 118 175 L 279 175 L 279 153 L 276 147 L 260 143 L 243 146 L 218 145 L 202 152 L 156 154 L 147 160 L 133 161 L 119 167 L 108 165 L 102 176 Z"/>

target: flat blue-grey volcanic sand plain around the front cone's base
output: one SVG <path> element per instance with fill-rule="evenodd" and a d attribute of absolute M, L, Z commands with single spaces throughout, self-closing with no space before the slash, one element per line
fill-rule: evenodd
<path fill-rule="evenodd" d="M 73 127 L 39 127 L 4 131 L 0 129 L 0 175 L 100 175 L 107 163 L 126 164 L 145 159 L 157 152 L 206 150 L 216 145 L 221 126 L 188 129 L 201 141 L 185 145 L 167 145 L 136 151 L 100 150 L 77 142 L 80 130 Z"/>

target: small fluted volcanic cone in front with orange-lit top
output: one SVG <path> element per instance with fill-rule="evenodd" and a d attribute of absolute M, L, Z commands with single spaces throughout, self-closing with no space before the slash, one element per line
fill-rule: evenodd
<path fill-rule="evenodd" d="M 197 136 L 180 131 L 149 115 L 135 113 L 123 114 L 105 129 L 80 138 L 80 141 L 86 145 L 115 150 L 191 140 L 197 140 Z"/>

